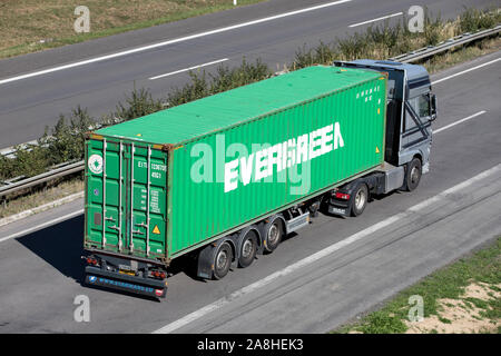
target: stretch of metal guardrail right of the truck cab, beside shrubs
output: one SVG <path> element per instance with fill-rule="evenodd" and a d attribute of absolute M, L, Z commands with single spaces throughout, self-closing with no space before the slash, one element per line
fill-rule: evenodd
<path fill-rule="evenodd" d="M 456 37 L 453 37 L 446 41 L 440 42 L 436 46 L 429 46 L 429 47 L 424 47 L 421 49 L 418 49 L 415 51 L 405 53 L 405 55 L 401 55 L 401 56 L 396 56 L 393 58 L 390 58 L 391 60 L 394 61 L 399 61 L 399 62 L 403 62 L 403 63 L 412 63 L 425 58 L 430 58 L 433 57 L 435 55 L 442 53 L 442 52 L 446 52 L 451 49 L 453 49 L 454 47 L 458 46 L 463 46 L 480 39 L 484 39 L 487 37 L 491 37 L 494 36 L 497 33 L 499 33 L 501 31 L 501 24 L 494 27 L 493 29 L 489 29 L 489 30 L 483 30 L 483 31 L 478 31 L 474 33 L 463 33 Z"/>

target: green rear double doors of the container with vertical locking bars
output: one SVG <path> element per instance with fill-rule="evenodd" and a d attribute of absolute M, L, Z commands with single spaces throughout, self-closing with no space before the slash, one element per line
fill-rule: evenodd
<path fill-rule="evenodd" d="M 121 140 L 87 146 L 86 246 L 164 257 L 167 154 Z"/>

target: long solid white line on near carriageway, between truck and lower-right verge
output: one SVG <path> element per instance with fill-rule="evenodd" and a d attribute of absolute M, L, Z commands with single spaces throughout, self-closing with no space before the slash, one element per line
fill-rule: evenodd
<path fill-rule="evenodd" d="M 321 259 L 323 257 L 326 257 L 326 256 L 331 255 L 332 253 L 334 253 L 334 251 L 336 251 L 336 250 L 338 250 L 338 249 L 341 249 L 343 247 L 346 247 L 346 246 L 348 246 L 348 245 L 351 245 L 351 244 L 353 244 L 355 241 L 358 241 L 358 240 L 361 240 L 363 238 L 371 237 L 372 234 L 374 234 L 375 231 L 377 231 L 377 230 L 380 230 L 380 229 L 382 229 L 382 228 L 384 228 L 386 226 L 390 226 L 393 222 L 395 222 L 395 221 L 397 221 L 397 220 L 400 220 L 400 219 L 402 219 L 404 217 L 409 217 L 412 214 L 414 214 L 415 211 L 418 211 L 420 209 L 423 209 L 424 207 L 428 207 L 430 204 L 436 202 L 436 201 L 445 198 L 448 195 L 450 195 L 452 192 L 455 192 L 455 191 L 459 191 L 459 190 L 462 190 L 462 189 L 466 188 L 468 186 L 472 185 L 473 182 L 479 181 L 481 179 L 484 179 L 484 178 L 487 178 L 489 176 L 492 176 L 492 175 L 494 175 L 497 172 L 501 172 L 501 164 L 498 165 L 498 166 L 494 166 L 493 168 L 490 168 L 490 169 L 488 169 L 488 170 L 485 170 L 485 171 L 483 171 L 483 172 L 481 172 L 481 174 L 479 174 L 479 175 L 477 175 L 477 176 L 474 176 L 474 177 L 472 177 L 472 178 L 470 178 L 470 179 L 468 179 L 468 180 L 465 180 L 465 181 L 463 181 L 463 182 L 461 182 L 459 185 L 455 185 L 452 188 L 449 188 L 449 189 L 440 192 L 439 195 L 436 195 L 436 196 L 434 196 L 432 198 L 429 198 L 429 199 L 426 199 L 426 200 L 424 200 L 424 201 L 422 201 L 422 202 L 420 202 L 418 205 L 414 205 L 413 207 L 409 208 L 404 212 L 400 212 L 400 214 L 397 214 L 395 216 L 392 216 L 392 217 L 390 217 L 387 219 L 384 219 L 384 220 L 382 220 L 382 221 L 380 221 L 380 222 L 377 222 L 377 224 L 375 224 L 375 225 L 373 225 L 373 226 L 371 226 L 371 227 L 369 227 L 369 228 L 366 228 L 366 229 L 364 229 L 362 231 L 358 231 L 358 233 L 356 233 L 356 234 L 354 234 L 354 235 L 352 235 L 352 236 L 350 236 L 350 237 L 347 237 L 347 238 L 345 238 L 345 239 L 343 239 L 343 240 L 341 240 L 338 243 L 335 243 L 335 244 L 333 244 L 333 245 L 331 245 L 331 246 L 328 246 L 328 247 L 326 247 L 326 248 L 324 248 L 324 249 L 322 249 L 322 250 L 320 250 L 320 251 L 317 251 L 317 253 L 315 253 L 313 255 L 310 255 L 306 258 L 303 258 L 303 259 L 298 260 L 297 263 L 295 263 L 293 265 L 289 265 L 289 266 L 283 268 L 283 269 L 281 269 L 278 271 L 275 271 L 274 274 L 269 275 L 268 277 L 266 277 L 264 279 L 257 280 L 257 281 L 255 281 L 255 283 L 253 283 L 253 284 L 244 287 L 244 288 L 240 288 L 240 289 L 232 293 L 229 296 L 223 297 L 223 298 L 220 298 L 220 299 L 218 299 L 218 300 L 216 300 L 216 301 L 214 301 L 214 303 L 212 303 L 212 304 L 209 304 L 209 305 L 207 305 L 207 306 L 205 306 L 205 307 L 203 307 L 203 308 L 200 308 L 200 309 L 198 309 L 196 312 L 193 312 L 193 313 L 181 317 L 180 319 L 178 319 L 176 322 L 167 324 L 166 326 L 164 326 L 164 327 L 161 327 L 161 328 L 159 328 L 159 329 L 157 329 L 157 330 L 155 330 L 153 333 L 154 334 L 167 334 L 167 333 L 171 333 L 174 330 L 177 330 L 177 329 L 179 329 L 179 328 L 190 324 L 191 322 L 195 322 L 196 319 L 199 319 L 199 318 L 206 316 L 207 314 L 224 307 L 225 305 L 236 300 L 237 298 L 240 298 L 240 297 L 243 297 L 243 296 L 245 296 L 245 295 L 247 295 L 249 293 L 253 293 L 253 291 L 255 291 L 255 290 L 257 290 L 257 289 L 268 285 L 269 283 L 272 283 L 273 280 L 277 279 L 278 277 L 283 277 L 283 276 L 289 275 L 293 271 L 297 270 L 298 268 L 302 268 L 302 267 L 305 267 L 307 265 L 311 265 L 314 261 L 316 261 L 316 260 L 318 260 L 318 259 Z"/>

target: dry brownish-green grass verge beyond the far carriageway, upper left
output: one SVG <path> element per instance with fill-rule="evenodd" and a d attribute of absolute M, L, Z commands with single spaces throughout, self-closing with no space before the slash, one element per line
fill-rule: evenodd
<path fill-rule="evenodd" d="M 265 0 L 238 0 L 246 6 Z M 78 4 L 90 11 L 90 32 L 77 33 Z M 234 8 L 232 0 L 0 1 L 0 58 L 173 22 Z"/>

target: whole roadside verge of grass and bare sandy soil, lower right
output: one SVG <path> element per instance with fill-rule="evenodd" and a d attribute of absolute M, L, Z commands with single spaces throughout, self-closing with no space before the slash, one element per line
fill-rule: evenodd
<path fill-rule="evenodd" d="M 411 296 L 423 299 L 423 319 L 409 322 Z M 411 310 L 412 314 L 413 310 Z M 332 333 L 500 333 L 501 237 L 401 291 L 381 309 Z"/>

